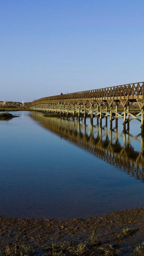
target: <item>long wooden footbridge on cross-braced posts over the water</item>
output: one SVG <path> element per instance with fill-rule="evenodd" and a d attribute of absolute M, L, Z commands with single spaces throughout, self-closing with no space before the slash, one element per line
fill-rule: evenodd
<path fill-rule="evenodd" d="M 138 113 L 131 111 L 131 105 L 136 102 L 139 108 Z M 122 111 L 119 111 L 121 106 Z M 126 123 L 133 119 L 141 122 L 144 127 L 144 82 L 124 84 L 119 86 L 81 91 L 56 95 L 35 100 L 29 105 L 31 110 L 44 113 L 59 113 L 60 116 L 84 116 L 103 118 L 110 116 L 112 121 L 119 117 L 123 118 L 124 129 Z"/>

